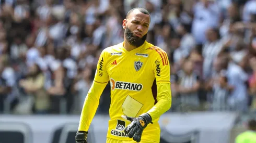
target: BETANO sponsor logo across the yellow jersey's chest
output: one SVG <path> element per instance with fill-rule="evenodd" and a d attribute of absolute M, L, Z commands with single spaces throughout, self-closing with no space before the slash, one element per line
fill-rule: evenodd
<path fill-rule="evenodd" d="M 130 83 L 130 82 L 120 82 L 110 79 L 111 90 L 114 89 L 123 89 L 123 90 L 132 90 L 132 91 L 141 91 L 143 88 L 142 84 L 139 83 Z"/>

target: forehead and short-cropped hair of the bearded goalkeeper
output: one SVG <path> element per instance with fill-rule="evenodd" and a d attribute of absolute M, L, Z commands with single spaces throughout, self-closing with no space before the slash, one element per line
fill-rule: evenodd
<path fill-rule="evenodd" d="M 128 19 L 131 20 L 139 20 L 139 21 L 143 21 L 143 22 L 150 22 L 150 16 L 143 14 L 141 11 L 139 11 L 138 9 L 134 9 L 131 14 L 128 16 Z"/>

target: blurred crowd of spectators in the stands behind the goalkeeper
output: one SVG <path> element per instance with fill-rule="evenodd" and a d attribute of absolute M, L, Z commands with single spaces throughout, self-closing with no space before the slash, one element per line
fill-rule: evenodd
<path fill-rule="evenodd" d="M 133 7 L 149 11 L 147 41 L 168 54 L 170 112 L 256 109 L 255 0 L 2 0 L 0 113 L 79 114 Z"/>

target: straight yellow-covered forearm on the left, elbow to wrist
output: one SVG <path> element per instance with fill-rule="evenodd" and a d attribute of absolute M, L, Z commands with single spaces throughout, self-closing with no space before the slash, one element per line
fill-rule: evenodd
<path fill-rule="evenodd" d="M 90 123 L 95 116 L 99 106 L 100 96 L 107 83 L 92 83 L 92 86 L 85 98 L 84 107 L 80 116 L 78 131 L 88 131 Z"/>

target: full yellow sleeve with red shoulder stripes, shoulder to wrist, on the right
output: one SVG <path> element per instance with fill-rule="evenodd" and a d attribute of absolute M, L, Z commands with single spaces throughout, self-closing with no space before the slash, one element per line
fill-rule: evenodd
<path fill-rule="evenodd" d="M 168 56 L 160 48 L 156 48 L 156 51 L 156 56 L 154 56 L 154 73 L 157 85 L 157 103 L 147 112 L 151 115 L 152 121 L 158 119 L 171 108 L 170 65 Z"/>

